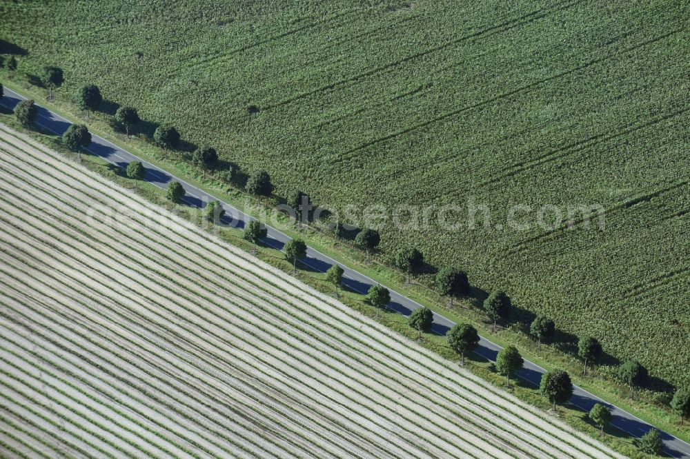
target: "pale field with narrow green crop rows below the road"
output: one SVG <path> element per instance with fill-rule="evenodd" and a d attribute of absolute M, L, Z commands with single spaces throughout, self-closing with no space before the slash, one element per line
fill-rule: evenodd
<path fill-rule="evenodd" d="M 0 127 L 0 456 L 617 456 Z"/>

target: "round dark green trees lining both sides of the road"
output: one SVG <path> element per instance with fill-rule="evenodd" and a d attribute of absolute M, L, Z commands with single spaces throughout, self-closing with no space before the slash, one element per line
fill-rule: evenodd
<path fill-rule="evenodd" d="M 16 68 L 16 61 L 15 61 Z M 63 72 L 57 67 L 46 67 L 43 76 L 41 76 L 43 85 L 49 90 L 49 98 L 52 98 L 52 90 L 58 88 L 63 83 Z M 3 88 L 0 85 L 0 97 L 3 96 Z M 103 98 L 99 88 L 95 85 L 83 86 L 77 92 L 75 101 L 81 110 L 86 110 L 87 116 L 90 111 L 98 110 Z M 31 125 L 37 117 L 37 108 L 34 101 L 22 101 L 14 110 L 17 120 L 23 125 Z M 126 130 L 126 135 L 129 137 L 130 130 L 141 121 L 137 110 L 132 107 L 122 106 L 118 108 L 115 113 L 115 121 L 121 124 Z M 70 128 L 62 136 L 63 143 L 77 153 L 81 148 L 86 147 L 91 142 L 91 134 L 85 125 L 70 125 Z M 160 125 L 154 133 L 153 141 L 162 147 L 168 156 L 168 150 L 173 150 L 179 145 L 180 135 L 177 130 L 170 125 Z M 81 158 L 81 156 L 80 156 Z M 193 163 L 199 165 L 203 170 L 204 176 L 208 170 L 214 170 L 219 158 L 216 150 L 209 145 L 201 145 L 195 150 L 192 156 Z M 144 179 L 146 170 L 144 165 L 139 161 L 134 161 L 128 164 L 126 174 L 131 179 Z M 270 196 L 273 192 L 273 185 L 270 182 L 270 176 L 267 172 L 259 170 L 252 174 L 246 183 L 246 191 L 255 196 Z M 173 204 L 179 203 L 184 197 L 184 187 L 178 182 L 171 182 L 168 185 L 167 196 Z M 297 214 L 297 221 L 299 221 L 300 205 L 304 202 L 304 198 L 308 196 L 302 191 L 292 192 L 287 199 L 288 205 L 293 207 Z M 224 214 L 222 205 L 218 201 L 213 201 L 206 206 L 206 218 L 209 221 L 217 221 Z M 256 250 L 256 243 L 266 237 L 267 231 L 264 225 L 258 221 L 250 221 L 245 228 L 245 238 L 252 242 L 254 250 Z M 360 231 L 355 237 L 355 244 L 362 248 L 367 254 L 367 261 L 369 260 L 373 251 L 380 245 L 381 237 L 379 232 L 372 229 L 365 228 Z M 286 259 L 293 264 L 293 274 L 296 271 L 297 261 L 306 256 L 306 244 L 301 239 L 293 239 L 286 243 L 284 252 Z M 412 245 L 406 245 L 397 250 L 393 257 L 393 264 L 398 269 L 406 274 L 406 282 L 410 282 L 411 274 L 417 274 L 424 266 L 423 254 Z M 326 273 L 326 279 L 335 285 L 336 295 L 338 289 L 342 288 L 343 269 L 338 265 L 333 265 Z M 435 285 L 442 296 L 449 296 L 451 305 L 453 299 L 464 296 L 469 293 L 470 285 L 467 274 L 461 269 L 455 267 L 444 267 L 437 272 L 435 278 Z M 375 285 L 369 289 L 366 295 L 366 301 L 377 307 L 383 309 L 390 302 L 390 292 L 385 287 Z M 487 316 L 493 320 L 493 329 L 497 326 L 498 320 L 504 320 L 511 314 L 511 300 L 502 291 L 491 292 L 488 298 L 484 300 L 484 311 Z M 433 324 L 433 312 L 426 307 L 420 307 L 409 316 L 408 324 L 417 330 L 417 337 L 421 339 L 422 332 L 429 332 Z M 537 316 L 530 325 L 530 334 L 537 340 L 538 349 L 541 348 L 542 341 L 546 342 L 553 338 L 555 334 L 555 324 L 553 320 L 546 316 Z M 479 335 L 477 330 L 469 324 L 456 325 L 451 329 L 446 338 L 451 349 L 460 355 L 461 365 L 464 365 L 464 356 L 466 353 L 474 351 L 479 343 Z M 584 374 L 588 363 L 595 363 L 602 354 L 602 348 L 598 340 L 591 336 L 582 336 L 578 340 L 578 356 L 582 358 L 584 363 Z M 514 376 L 515 371 L 520 369 L 524 363 L 522 356 L 520 356 L 517 349 L 513 346 L 506 347 L 497 356 L 496 368 L 501 374 L 504 374 L 510 382 L 510 378 Z M 634 388 L 640 387 L 647 379 L 647 369 L 640 363 L 629 360 L 618 368 L 618 377 L 622 382 L 629 385 L 631 393 L 634 394 Z M 570 387 L 570 393 L 567 389 Z M 572 393 L 572 385 L 570 378 L 564 371 L 553 371 L 544 374 L 541 385 L 542 392 L 549 396 L 549 400 L 554 403 L 564 402 L 568 400 Z M 671 400 L 671 408 L 678 413 L 681 418 L 681 424 L 685 417 L 690 416 L 690 392 L 684 389 L 676 391 L 676 394 Z M 601 422 L 606 415 L 604 411 L 608 409 L 603 405 L 595 405 L 591 418 L 602 427 Z M 607 411 L 608 412 L 608 411 Z M 609 412 L 610 416 L 610 412 Z M 651 432 L 650 432 L 651 433 Z"/>

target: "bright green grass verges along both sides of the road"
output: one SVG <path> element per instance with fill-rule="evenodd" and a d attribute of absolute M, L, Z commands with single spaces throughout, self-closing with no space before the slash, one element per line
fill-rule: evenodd
<path fill-rule="evenodd" d="M 11 83 L 7 86 L 8 88 L 12 88 L 14 86 L 17 90 L 28 92 L 26 88 L 19 87 L 19 85 L 14 85 Z M 37 101 L 41 101 L 43 104 L 44 101 L 41 99 L 44 98 L 44 96 L 41 96 L 40 92 L 35 88 L 33 91 L 34 93 L 30 95 L 35 96 Z M 55 111 L 63 114 L 63 116 L 66 116 L 68 119 L 75 119 L 73 114 L 66 112 L 66 110 L 70 110 L 69 103 L 59 100 L 55 102 L 56 105 L 59 106 Z M 51 105 L 51 109 L 54 108 L 52 104 L 49 105 Z M 7 116 L 7 114 L 3 114 L 2 120 L 12 128 L 21 130 L 19 126 L 17 126 L 17 123 L 14 122 L 14 119 L 12 119 L 10 116 Z M 117 134 L 105 134 L 109 127 L 108 124 L 103 120 L 90 119 L 89 127 L 92 132 L 102 135 L 108 140 L 113 141 L 113 143 L 126 147 L 128 150 L 132 150 L 138 156 L 146 159 L 146 161 L 160 165 L 162 168 L 169 170 L 173 174 L 184 177 L 186 181 L 201 187 L 223 201 L 227 201 L 228 203 L 231 203 L 242 210 L 246 210 L 247 213 L 251 213 L 259 217 L 261 217 L 263 214 L 264 217 L 267 216 L 268 218 L 275 218 L 277 221 L 285 223 L 288 226 L 290 224 L 285 216 L 271 214 L 270 210 L 267 210 L 266 207 L 257 205 L 255 201 L 247 200 L 246 196 L 242 194 L 242 192 L 239 192 L 239 190 L 235 190 L 227 185 L 221 184 L 219 181 L 215 181 L 213 178 L 208 176 L 206 179 L 202 179 L 201 173 L 184 161 L 180 161 L 179 159 L 165 161 L 162 152 L 145 141 L 141 141 L 140 139 L 124 141 L 124 139 L 120 139 Z M 23 131 L 26 132 L 26 130 Z M 54 149 L 64 151 L 54 135 L 47 132 L 32 132 L 31 134 L 34 137 L 37 137 L 42 143 Z M 132 182 L 126 179 L 116 167 L 113 167 L 97 157 L 86 156 L 83 163 L 91 170 L 99 172 L 101 175 L 116 181 L 120 185 L 124 185 L 129 188 L 134 187 Z M 147 183 L 139 183 L 137 191 L 141 196 L 144 196 L 149 201 L 169 207 L 164 197 L 163 190 L 159 190 L 159 188 Z M 246 207 L 247 202 L 250 203 L 248 207 Z M 193 219 L 194 221 L 200 220 L 198 218 L 198 211 L 189 207 L 181 207 L 177 212 L 181 216 Z M 690 438 L 688 429 L 684 428 L 681 430 L 677 425 L 678 421 L 675 419 L 675 416 L 670 414 L 669 411 L 661 409 L 660 407 L 657 407 L 645 400 L 629 400 L 627 398 L 627 389 L 624 389 L 624 387 L 620 387 L 619 385 L 612 385 L 609 380 L 604 380 L 595 376 L 588 376 L 586 378 L 579 376 L 581 371 L 580 363 L 571 356 L 563 354 L 557 349 L 553 349 L 549 346 L 542 346 L 541 353 L 537 353 L 535 343 L 533 343 L 533 341 L 526 336 L 524 332 L 521 332 L 517 329 L 502 329 L 497 332 L 497 334 L 491 333 L 488 323 L 486 323 L 484 316 L 477 311 L 473 301 L 459 301 L 453 306 L 453 308 L 451 308 L 446 305 L 445 301 L 435 294 L 435 292 L 433 292 L 431 289 L 417 284 L 406 285 L 404 283 L 404 276 L 398 272 L 395 272 L 395 270 L 385 267 L 380 263 L 365 263 L 363 254 L 352 247 L 348 247 L 342 243 L 342 241 L 336 241 L 330 236 L 317 232 L 308 227 L 303 227 L 302 229 L 297 229 L 294 227 L 288 228 L 284 232 L 290 236 L 302 236 L 312 247 L 318 249 L 320 252 L 323 252 L 328 256 L 332 256 L 333 258 L 337 258 L 344 264 L 354 267 L 358 271 L 363 272 L 376 281 L 385 283 L 402 294 L 410 296 L 423 305 L 432 307 L 436 311 L 440 312 L 440 314 L 443 314 L 455 322 L 473 323 L 473 325 L 480 330 L 480 333 L 484 334 L 485 336 L 489 336 L 491 340 L 500 345 L 517 345 L 521 349 L 521 352 L 525 358 L 528 358 L 542 367 L 562 367 L 568 370 L 573 376 L 573 381 L 584 389 L 615 403 L 615 405 L 631 411 L 631 413 L 635 414 L 636 416 L 639 416 L 640 418 L 647 420 L 647 422 L 651 422 L 654 425 L 658 425 L 658 427 L 668 431 L 669 433 L 672 433 L 673 435 L 683 438 L 684 440 L 688 440 L 688 438 Z M 219 234 L 222 238 L 226 239 L 226 241 L 229 241 L 234 245 L 242 247 L 246 250 L 251 249 L 250 244 L 244 241 L 242 238 L 242 232 L 239 230 L 223 229 L 220 230 Z M 267 261 L 271 265 L 279 267 L 284 272 L 290 272 L 290 266 L 288 263 L 286 263 L 286 261 L 284 261 L 282 254 L 279 254 L 279 252 L 273 249 L 259 247 L 257 256 L 262 258 L 264 261 Z M 316 287 L 319 289 L 319 291 L 332 293 L 332 287 L 324 281 L 324 276 L 320 273 L 301 271 L 298 273 L 297 278 L 308 283 L 309 285 L 312 285 L 313 287 Z M 380 323 L 395 330 L 396 332 L 404 334 L 411 339 L 415 338 L 415 333 L 406 325 L 406 320 L 403 316 L 392 312 L 377 314 L 373 308 L 362 303 L 361 296 L 354 294 L 353 292 L 344 292 L 339 299 L 353 309 L 372 318 L 376 318 L 376 320 L 378 320 Z M 428 349 L 437 352 L 437 354 L 444 356 L 445 358 L 453 360 L 455 359 L 455 356 L 446 346 L 444 338 L 440 336 L 425 336 L 423 345 Z M 469 368 L 475 374 L 482 376 L 482 378 L 491 381 L 495 385 L 504 385 L 502 378 L 495 374 L 493 365 L 491 365 L 491 363 L 482 362 L 475 359 L 470 361 Z M 519 396 L 523 400 L 545 409 L 548 407 L 546 400 L 543 400 L 541 396 L 539 396 L 539 394 L 533 389 L 533 387 L 528 387 L 524 383 L 520 383 L 513 389 L 513 391 L 515 392 L 515 395 Z M 578 429 L 595 434 L 595 428 L 589 424 L 581 411 L 575 409 L 562 409 L 559 416 Z M 633 452 L 629 449 L 629 438 L 626 438 L 626 436 L 620 433 L 613 436 L 613 438 L 616 438 L 617 441 L 622 442 L 622 445 L 617 447 L 619 451 L 626 454 L 631 454 Z"/>

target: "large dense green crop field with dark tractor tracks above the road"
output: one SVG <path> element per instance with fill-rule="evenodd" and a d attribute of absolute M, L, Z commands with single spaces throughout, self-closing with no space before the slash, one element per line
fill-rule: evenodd
<path fill-rule="evenodd" d="M 4 2 L 0 39 L 26 52 L 20 73 L 59 65 L 61 94 L 95 83 L 268 170 L 282 196 L 484 205 L 491 230 L 385 225 L 382 256 L 414 242 L 431 265 L 690 383 L 683 2 L 138 3 Z M 529 227 L 506 228 L 518 204 L 596 208 L 606 224 L 548 229 L 523 212 Z"/>

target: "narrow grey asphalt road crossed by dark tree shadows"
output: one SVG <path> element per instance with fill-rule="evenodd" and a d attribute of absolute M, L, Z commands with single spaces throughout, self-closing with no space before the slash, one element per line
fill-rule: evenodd
<path fill-rule="evenodd" d="M 5 95 L 0 99 L 0 105 L 3 105 L 10 110 L 13 110 L 14 106 L 17 105 L 19 101 L 26 99 L 26 97 L 21 96 L 21 94 L 18 94 L 17 92 L 14 92 L 8 88 L 4 88 L 4 92 Z M 67 130 L 68 126 L 72 124 L 67 119 L 54 112 L 51 112 L 50 110 L 47 110 L 46 108 L 43 108 L 39 105 L 37 105 L 37 107 L 38 116 L 36 123 L 37 125 L 41 126 L 41 128 L 45 128 L 50 132 L 55 132 L 55 134 L 61 135 Z M 186 193 L 184 196 L 184 201 L 190 206 L 201 208 L 204 207 L 209 201 L 216 200 L 216 198 L 210 194 L 199 190 L 199 188 L 186 183 L 184 180 L 178 179 L 172 174 L 169 174 L 159 167 L 140 159 L 138 156 L 121 149 L 117 145 L 107 141 L 106 139 L 103 139 L 100 136 L 97 136 L 96 134 L 92 134 L 92 143 L 86 148 L 86 150 L 91 154 L 100 156 L 109 163 L 122 168 L 127 167 L 130 161 L 141 161 L 144 163 L 144 167 L 146 167 L 146 176 L 144 176 L 144 180 L 156 185 L 157 187 L 165 189 L 170 181 L 179 181 L 179 183 L 181 183 L 181 185 L 184 187 Z M 242 229 L 244 228 L 246 222 L 256 220 L 256 218 L 240 212 L 235 207 L 228 205 L 227 203 L 222 203 L 222 205 L 226 211 L 226 216 L 224 216 L 223 221 L 221 222 L 223 225 Z M 262 240 L 262 242 L 270 247 L 282 250 L 285 243 L 290 240 L 290 237 L 268 225 L 266 228 L 268 230 L 268 234 L 266 238 Z M 307 248 L 306 258 L 302 259 L 300 262 L 310 269 L 314 269 L 318 272 L 326 272 L 326 270 L 334 264 L 340 265 L 340 267 L 344 269 L 344 285 L 346 285 L 348 289 L 351 289 L 359 294 L 366 294 L 369 287 L 377 284 L 377 282 L 373 279 L 355 271 L 354 269 L 342 265 L 342 263 L 338 263 L 337 261 L 333 260 L 333 258 L 326 256 L 321 252 L 317 252 L 311 247 Z M 395 292 L 393 289 L 389 290 L 391 290 L 391 303 L 388 303 L 388 307 L 393 309 L 395 312 L 408 316 L 415 309 L 422 307 L 422 305 L 415 302 L 411 298 L 407 298 L 406 296 Z M 451 320 L 441 316 L 440 314 L 434 313 L 432 329 L 436 334 L 444 336 L 446 332 L 453 327 L 453 325 L 455 325 L 455 323 L 453 323 Z M 475 352 L 476 354 L 479 354 L 480 356 L 494 362 L 498 351 L 501 349 L 502 347 L 499 345 L 492 343 L 490 340 L 487 340 L 484 337 L 481 337 L 480 346 Z M 538 386 L 542 374 L 544 374 L 545 371 L 546 370 L 539 365 L 535 365 L 534 363 L 525 360 L 522 369 L 517 371 L 517 376 L 533 385 Z M 573 397 L 570 400 L 572 405 L 575 405 L 575 407 L 583 409 L 584 411 L 589 411 L 595 403 L 607 405 L 611 409 L 611 414 L 613 414 L 613 420 L 611 423 L 615 427 L 618 427 L 618 429 L 621 429 L 632 436 L 640 437 L 642 434 L 652 428 L 652 426 L 647 424 L 647 422 L 644 422 L 640 418 L 633 416 L 633 414 L 604 402 L 604 400 L 601 398 L 590 394 L 588 391 L 585 391 L 578 386 L 574 386 L 573 389 Z M 666 432 L 662 432 L 662 438 L 664 439 L 664 452 L 669 456 L 674 458 L 690 458 L 689 443 L 684 442 L 683 440 L 680 440 L 680 438 L 676 438 Z"/>

